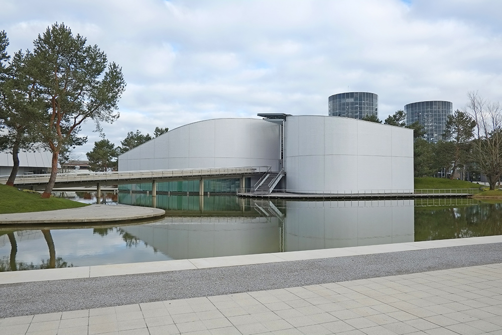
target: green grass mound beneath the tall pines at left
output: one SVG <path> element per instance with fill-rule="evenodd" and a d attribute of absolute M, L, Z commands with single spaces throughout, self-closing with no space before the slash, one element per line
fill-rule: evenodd
<path fill-rule="evenodd" d="M 42 199 L 40 194 L 20 191 L 0 184 L 0 214 L 25 213 L 87 206 L 85 203 L 63 198 Z"/>

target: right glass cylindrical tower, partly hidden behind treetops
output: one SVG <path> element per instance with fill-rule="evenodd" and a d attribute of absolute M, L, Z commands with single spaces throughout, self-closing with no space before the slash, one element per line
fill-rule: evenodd
<path fill-rule="evenodd" d="M 406 125 L 418 121 L 424 127 L 423 139 L 429 143 L 437 143 L 443 139 L 446 120 L 453 114 L 450 101 L 419 101 L 405 105 Z"/>

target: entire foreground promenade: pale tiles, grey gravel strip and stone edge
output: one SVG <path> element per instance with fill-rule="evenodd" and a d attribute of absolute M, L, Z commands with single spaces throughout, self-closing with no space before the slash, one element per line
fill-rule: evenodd
<path fill-rule="evenodd" d="M 0 285 L 0 333 L 502 334 L 500 236 L 259 256 L 26 271 Z"/>

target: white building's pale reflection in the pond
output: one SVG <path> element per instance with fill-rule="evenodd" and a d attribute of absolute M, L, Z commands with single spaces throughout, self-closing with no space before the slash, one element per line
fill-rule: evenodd
<path fill-rule="evenodd" d="M 168 215 L 175 216 L 121 229 L 173 259 L 414 241 L 413 200 L 272 202 L 216 196 L 204 199 L 200 208 L 196 196 L 171 198 L 158 203 L 169 203 Z M 176 215 L 174 203 L 182 205 L 183 216 Z"/>

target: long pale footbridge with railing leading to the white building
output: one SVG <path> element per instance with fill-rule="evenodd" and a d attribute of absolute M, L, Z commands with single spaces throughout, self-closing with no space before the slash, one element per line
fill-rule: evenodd
<path fill-rule="evenodd" d="M 206 169 L 172 169 L 172 170 L 142 170 L 142 171 L 110 171 L 91 173 L 58 173 L 56 183 L 74 182 L 114 182 L 118 180 L 162 179 L 176 177 L 205 177 L 220 175 L 248 175 L 265 173 L 270 166 L 245 166 Z M 32 174 L 17 176 L 15 184 L 45 184 L 49 181 L 49 174 Z M 7 177 L 0 178 L 0 183 L 6 183 Z"/>

